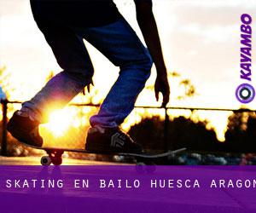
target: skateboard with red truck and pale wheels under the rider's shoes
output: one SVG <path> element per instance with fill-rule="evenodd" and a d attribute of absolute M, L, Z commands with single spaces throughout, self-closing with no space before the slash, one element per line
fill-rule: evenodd
<path fill-rule="evenodd" d="M 33 147 L 33 146 L 29 146 Z M 87 154 L 104 154 L 104 155 L 118 155 L 124 157 L 131 157 L 137 159 L 137 164 L 143 164 L 143 162 L 149 162 L 150 160 L 157 158 L 165 158 L 173 156 L 176 153 L 180 153 L 186 150 L 186 148 L 180 148 L 166 153 L 112 153 L 112 152 L 91 152 L 84 149 L 72 149 L 72 148 L 56 148 L 56 147 L 33 147 L 37 149 L 44 150 L 48 155 L 41 158 L 42 165 L 61 165 L 62 164 L 62 154 L 65 152 L 71 153 L 87 153 Z"/>

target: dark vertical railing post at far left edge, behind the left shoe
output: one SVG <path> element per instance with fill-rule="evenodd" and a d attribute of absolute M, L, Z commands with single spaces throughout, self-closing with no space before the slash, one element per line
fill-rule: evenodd
<path fill-rule="evenodd" d="M 2 120 L 2 144 L 1 144 L 1 155 L 7 155 L 7 100 L 2 100 L 2 112 L 3 112 L 3 120 Z"/>

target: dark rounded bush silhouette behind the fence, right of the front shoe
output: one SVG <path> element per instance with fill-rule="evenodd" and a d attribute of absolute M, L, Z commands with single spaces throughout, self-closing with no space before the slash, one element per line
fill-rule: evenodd
<path fill-rule="evenodd" d="M 174 118 L 167 126 L 164 137 L 164 121 L 159 117 L 146 118 L 131 127 L 129 135 L 147 150 L 163 151 L 166 147 L 186 147 L 194 151 L 219 151 L 220 142 L 214 130 L 207 130 L 207 121 L 195 123 L 190 118 Z"/>

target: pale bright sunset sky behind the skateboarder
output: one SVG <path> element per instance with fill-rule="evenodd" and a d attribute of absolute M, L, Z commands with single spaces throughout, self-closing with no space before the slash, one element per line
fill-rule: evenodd
<path fill-rule="evenodd" d="M 114 1 L 142 37 L 132 0 Z M 157 0 L 157 21 L 166 66 L 195 85 L 195 97 L 177 100 L 178 84 L 171 80 L 171 107 L 239 108 L 235 90 L 240 80 L 241 14 L 253 16 L 253 85 L 256 85 L 256 1 Z M 102 97 L 117 78 L 114 67 L 86 43 L 95 66 L 95 86 Z M 25 101 L 44 85 L 49 71 L 60 72 L 51 49 L 32 18 L 29 0 L 0 0 L 0 67 L 6 66 L 14 91 L 12 100 Z M 155 70 L 147 85 L 154 83 Z M 256 86 L 255 86 L 256 87 Z M 137 104 L 157 105 L 154 93 L 140 95 Z M 256 99 L 246 107 L 256 109 Z M 223 140 L 227 112 L 201 112 Z M 221 120 L 221 121 L 220 121 Z"/>

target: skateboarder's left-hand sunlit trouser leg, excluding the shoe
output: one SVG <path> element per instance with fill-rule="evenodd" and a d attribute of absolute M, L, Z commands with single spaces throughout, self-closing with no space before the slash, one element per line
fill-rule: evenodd
<path fill-rule="evenodd" d="M 49 25 L 39 27 L 53 50 L 59 66 L 63 69 L 51 78 L 32 100 L 22 104 L 23 109 L 29 109 L 32 117 L 43 122 L 48 110 L 64 107 L 91 83 L 93 66 L 82 37 L 67 27 Z"/>

